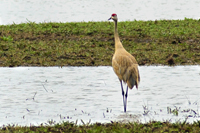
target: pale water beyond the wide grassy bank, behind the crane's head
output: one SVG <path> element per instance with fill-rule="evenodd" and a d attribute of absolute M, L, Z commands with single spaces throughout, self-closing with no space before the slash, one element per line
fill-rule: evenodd
<path fill-rule="evenodd" d="M 32 22 L 199 19 L 199 0 L 1 0 L 0 24 Z"/>

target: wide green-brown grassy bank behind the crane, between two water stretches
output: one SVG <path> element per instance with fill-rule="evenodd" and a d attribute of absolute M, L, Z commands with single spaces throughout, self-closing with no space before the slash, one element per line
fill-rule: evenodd
<path fill-rule="evenodd" d="M 0 66 L 111 65 L 113 22 L 0 26 Z M 200 20 L 119 22 L 120 39 L 140 65 L 200 64 Z"/>

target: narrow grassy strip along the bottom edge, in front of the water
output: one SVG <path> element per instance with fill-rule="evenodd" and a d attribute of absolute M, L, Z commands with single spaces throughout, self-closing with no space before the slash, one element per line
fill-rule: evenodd
<path fill-rule="evenodd" d="M 146 132 L 157 132 L 157 133 L 171 133 L 171 132 L 194 132 L 200 131 L 200 121 L 193 124 L 188 123 L 169 123 L 169 122 L 149 122 L 147 124 L 139 123 L 107 123 L 107 124 L 86 124 L 78 126 L 74 123 L 64 122 L 61 124 L 55 124 L 54 126 L 31 126 L 31 127 L 20 127 L 20 126 L 6 126 L 0 129 L 0 132 L 41 132 L 41 133 L 146 133 Z"/>

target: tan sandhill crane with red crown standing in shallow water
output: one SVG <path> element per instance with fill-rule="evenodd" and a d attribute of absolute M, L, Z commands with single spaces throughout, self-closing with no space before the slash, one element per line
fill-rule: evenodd
<path fill-rule="evenodd" d="M 117 14 L 112 14 L 108 20 L 110 19 L 112 19 L 115 24 L 115 27 L 114 27 L 115 53 L 112 58 L 112 67 L 121 83 L 124 112 L 126 112 L 128 88 L 132 89 L 135 85 L 136 88 L 138 89 L 138 84 L 140 82 L 138 63 L 136 59 L 124 49 L 119 39 L 119 35 L 117 31 L 117 20 L 118 20 Z M 124 95 L 122 81 L 127 84 L 125 95 Z M 125 96 L 125 99 L 124 99 L 124 96 Z"/>

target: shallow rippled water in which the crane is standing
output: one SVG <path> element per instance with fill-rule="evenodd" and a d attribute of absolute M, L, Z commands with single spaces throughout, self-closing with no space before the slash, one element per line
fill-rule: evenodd
<path fill-rule="evenodd" d="M 139 70 L 139 89 L 129 91 L 124 113 L 112 67 L 1 67 L 0 126 L 38 125 L 51 119 L 148 122 L 190 116 L 189 122 L 199 120 L 199 66 L 140 66 Z M 167 107 L 180 108 L 178 116 Z"/>

